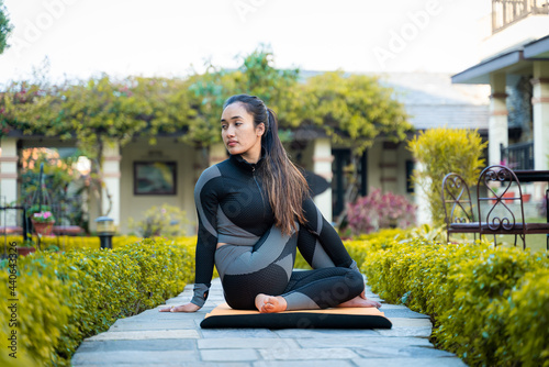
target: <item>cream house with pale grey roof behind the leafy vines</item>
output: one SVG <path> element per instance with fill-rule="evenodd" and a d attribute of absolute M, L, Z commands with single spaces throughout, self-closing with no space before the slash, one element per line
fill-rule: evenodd
<path fill-rule="evenodd" d="M 394 97 L 404 103 L 416 130 L 435 126 L 478 129 L 488 136 L 486 87 L 452 85 L 450 75 L 429 73 L 389 74 L 380 82 L 394 90 Z M 75 142 L 57 137 L 37 137 L 10 132 L 1 140 L 0 196 L 5 202 L 18 198 L 18 160 L 21 149 L 27 147 L 74 147 Z M 371 188 L 381 188 L 406 194 L 419 204 L 419 221 L 424 219 L 425 200 L 414 196 L 410 176 L 414 168 L 406 142 L 395 144 L 379 138 L 362 155 L 359 164 L 359 194 L 366 196 Z M 298 129 L 288 144 L 292 159 L 317 180 L 330 182 L 314 200 L 325 218 L 333 221 L 344 209 L 344 194 L 348 187 L 345 175 L 350 163 L 350 149 L 333 145 L 329 136 L 320 129 Z M 158 136 L 156 145 L 145 138 L 104 149 L 103 207 L 111 208 L 111 216 L 121 233 L 127 233 L 127 219 L 141 219 L 150 207 L 161 203 L 180 207 L 187 212 L 188 233 L 194 233 L 195 209 L 193 188 L 204 168 L 224 160 L 227 153 L 222 143 L 206 148 L 195 148 L 180 143 L 177 136 Z M 166 178 L 167 177 L 167 178 Z M 90 204 L 90 224 L 100 213 L 98 205 Z M 423 213 L 423 214 L 422 214 Z M 8 223 L 10 224 L 10 223 Z"/>

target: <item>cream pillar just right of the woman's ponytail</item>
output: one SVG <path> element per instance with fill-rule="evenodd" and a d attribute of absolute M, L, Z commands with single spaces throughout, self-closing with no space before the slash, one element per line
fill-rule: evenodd
<path fill-rule="evenodd" d="M 316 138 L 313 142 L 313 173 L 332 182 L 332 143 L 329 138 Z M 314 202 L 326 221 L 332 222 L 332 190 L 328 188 L 314 197 Z"/>

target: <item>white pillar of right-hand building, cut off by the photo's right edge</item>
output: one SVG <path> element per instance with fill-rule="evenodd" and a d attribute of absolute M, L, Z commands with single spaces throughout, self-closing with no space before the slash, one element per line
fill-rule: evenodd
<path fill-rule="evenodd" d="M 549 63 L 534 62 L 534 169 L 549 169 Z"/>

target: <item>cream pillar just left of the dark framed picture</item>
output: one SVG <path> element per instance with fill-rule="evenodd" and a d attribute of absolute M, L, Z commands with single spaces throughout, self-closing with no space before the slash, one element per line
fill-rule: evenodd
<path fill-rule="evenodd" d="M 103 213 L 99 213 L 100 215 L 108 215 L 113 219 L 114 225 L 120 225 L 120 148 L 119 144 L 108 144 L 103 149 L 103 182 L 104 182 L 104 191 L 102 194 L 102 208 Z M 108 198 L 110 196 L 110 200 Z M 109 204 L 111 201 L 111 204 Z M 109 205 L 111 205 L 111 211 L 107 213 L 109 210 Z"/>

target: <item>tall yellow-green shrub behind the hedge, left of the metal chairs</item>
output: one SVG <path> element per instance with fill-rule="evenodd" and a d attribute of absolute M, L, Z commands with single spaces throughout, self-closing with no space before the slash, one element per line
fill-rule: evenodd
<path fill-rule="evenodd" d="M 447 127 L 426 130 L 410 141 L 410 151 L 423 166 L 414 170 L 413 181 L 424 188 L 436 226 L 442 225 L 445 220 L 444 177 L 456 173 L 469 187 L 477 185 L 486 145 L 477 131 Z"/>

